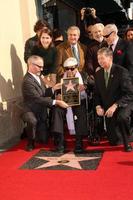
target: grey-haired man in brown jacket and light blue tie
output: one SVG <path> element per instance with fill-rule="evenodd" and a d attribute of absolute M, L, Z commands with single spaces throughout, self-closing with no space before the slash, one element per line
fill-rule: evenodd
<path fill-rule="evenodd" d="M 75 57 L 78 61 L 78 70 L 81 72 L 85 65 L 86 47 L 79 42 L 80 30 L 77 26 L 70 26 L 67 30 L 67 41 L 57 47 L 57 77 L 58 80 L 64 74 L 63 63 L 69 57 Z"/>

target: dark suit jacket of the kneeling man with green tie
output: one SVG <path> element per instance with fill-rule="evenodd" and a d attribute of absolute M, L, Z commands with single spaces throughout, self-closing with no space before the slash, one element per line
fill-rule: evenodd
<path fill-rule="evenodd" d="M 113 103 L 125 107 L 133 101 L 133 85 L 128 70 L 113 64 L 108 86 L 105 86 L 104 69 L 96 73 L 95 105 L 101 105 L 107 110 Z"/>

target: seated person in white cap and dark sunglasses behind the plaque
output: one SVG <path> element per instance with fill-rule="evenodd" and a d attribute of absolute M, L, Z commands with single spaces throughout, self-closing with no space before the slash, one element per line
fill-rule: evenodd
<path fill-rule="evenodd" d="M 64 76 L 63 78 L 78 77 L 79 91 L 80 91 L 80 105 L 67 108 L 67 112 L 62 108 L 55 108 L 52 112 L 52 128 L 51 131 L 59 138 L 57 150 L 64 152 L 64 120 L 67 120 L 68 130 L 70 134 L 75 134 L 75 153 L 84 152 L 83 136 L 88 134 L 87 130 L 87 109 L 86 109 L 86 91 L 85 84 L 87 76 L 86 73 L 78 71 L 78 62 L 76 58 L 67 58 L 63 64 Z M 59 98 L 60 95 L 58 94 Z"/>

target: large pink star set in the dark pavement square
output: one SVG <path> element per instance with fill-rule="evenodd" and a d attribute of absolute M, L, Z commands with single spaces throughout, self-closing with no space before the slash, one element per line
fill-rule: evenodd
<path fill-rule="evenodd" d="M 98 159 L 100 157 L 98 157 L 98 156 L 80 157 L 80 156 L 76 156 L 73 152 L 69 152 L 69 153 L 63 154 L 58 157 L 36 156 L 36 158 L 39 158 L 39 159 L 42 159 L 42 160 L 45 160 L 48 162 L 41 164 L 40 166 L 36 167 L 35 169 L 41 169 L 43 167 L 51 167 L 51 166 L 57 166 L 57 165 L 65 165 L 65 166 L 69 166 L 69 167 L 76 168 L 76 169 L 82 169 L 82 167 L 79 163 L 80 161 L 94 160 L 94 159 Z"/>

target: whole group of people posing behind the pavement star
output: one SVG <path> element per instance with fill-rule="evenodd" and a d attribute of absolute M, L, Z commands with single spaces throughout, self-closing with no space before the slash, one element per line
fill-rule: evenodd
<path fill-rule="evenodd" d="M 133 28 L 120 38 L 115 24 L 104 26 L 94 8 L 83 8 L 81 26 L 68 27 L 66 40 L 44 20 L 36 22 L 34 31 L 36 35 L 26 41 L 24 49 L 27 73 L 22 82 L 22 119 L 26 123 L 26 150 L 32 151 L 36 142 L 46 144 L 52 137 L 56 151 L 63 153 L 67 124 L 69 133 L 75 135 L 74 152 L 84 152 L 91 88 L 94 123 L 101 119 L 100 131 L 106 132 L 110 145 L 122 140 L 124 150 L 132 151 L 128 137 L 133 109 Z M 62 79 L 74 77 L 79 80 L 80 104 L 70 106 L 62 100 Z"/>

